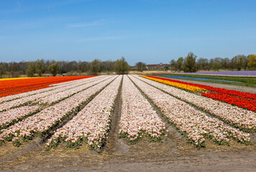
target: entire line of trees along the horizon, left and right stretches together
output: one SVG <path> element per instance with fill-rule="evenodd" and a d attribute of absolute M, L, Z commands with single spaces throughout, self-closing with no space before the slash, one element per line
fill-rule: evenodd
<path fill-rule="evenodd" d="M 116 61 L 94 59 L 92 62 L 77 61 L 55 61 L 37 59 L 32 62 L 0 62 L 0 77 L 4 75 L 28 77 L 42 75 L 98 75 L 101 72 L 111 74 L 127 74 L 130 67 L 122 57 Z M 134 69 L 137 71 L 147 70 L 144 62 L 137 62 Z M 168 70 L 168 69 L 164 69 Z M 193 52 L 189 52 L 186 57 L 179 57 L 177 60 L 170 60 L 170 70 L 196 72 L 198 70 L 256 70 L 256 55 L 237 55 L 232 59 L 216 57 L 212 59 L 198 58 Z"/>

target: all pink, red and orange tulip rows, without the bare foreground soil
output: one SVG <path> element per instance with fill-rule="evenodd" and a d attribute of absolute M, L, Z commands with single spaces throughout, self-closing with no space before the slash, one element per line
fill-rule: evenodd
<path fill-rule="evenodd" d="M 0 80 L 0 144 L 40 137 L 45 150 L 88 145 L 101 152 L 109 139 L 116 101 L 118 137 L 134 145 L 160 142 L 172 131 L 197 148 L 253 145 L 256 94 L 163 77 L 102 75 Z"/>

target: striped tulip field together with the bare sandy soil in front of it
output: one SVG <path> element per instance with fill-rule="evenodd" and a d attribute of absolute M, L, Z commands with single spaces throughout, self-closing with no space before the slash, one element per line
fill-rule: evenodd
<path fill-rule="evenodd" d="M 255 94 L 142 75 L 60 79 L 1 85 L 1 170 L 255 168 Z"/>

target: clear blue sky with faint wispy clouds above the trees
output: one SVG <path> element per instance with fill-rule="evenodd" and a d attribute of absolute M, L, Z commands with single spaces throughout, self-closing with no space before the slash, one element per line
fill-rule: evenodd
<path fill-rule="evenodd" d="M 0 61 L 255 54 L 255 8 L 255 0 L 0 0 Z"/>

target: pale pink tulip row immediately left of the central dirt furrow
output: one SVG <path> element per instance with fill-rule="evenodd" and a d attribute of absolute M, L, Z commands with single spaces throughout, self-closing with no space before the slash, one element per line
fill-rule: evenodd
<path fill-rule="evenodd" d="M 67 147 L 76 147 L 82 142 L 91 148 L 101 151 L 105 143 L 111 120 L 111 110 L 122 80 L 119 76 L 111 82 L 99 95 L 91 100 L 78 115 L 56 130 L 46 143 L 46 149 L 56 147 L 60 142 L 66 142 Z"/>

